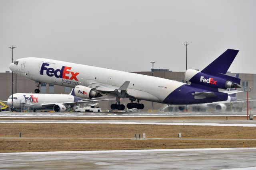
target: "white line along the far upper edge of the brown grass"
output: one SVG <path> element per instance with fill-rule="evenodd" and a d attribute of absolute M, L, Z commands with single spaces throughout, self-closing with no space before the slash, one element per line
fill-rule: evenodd
<path fill-rule="evenodd" d="M 221 124 L 221 123 L 162 123 L 162 122 L 68 122 L 68 121 L 0 121 L 0 123 L 74 123 L 74 124 L 132 124 L 132 125 L 188 125 L 188 126 L 239 126 L 256 127 L 256 124 Z"/>

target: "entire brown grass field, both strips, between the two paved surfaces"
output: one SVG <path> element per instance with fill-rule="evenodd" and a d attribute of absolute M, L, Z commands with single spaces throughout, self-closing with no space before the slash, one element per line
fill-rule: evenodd
<path fill-rule="evenodd" d="M 34 152 L 64 150 L 174 149 L 256 147 L 256 127 L 120 125 L 70 123 L 0 123 L 0 137 L 39 137 L 40 139 L 0 139 L 0 152 Z M 130 139 L 61 139 L 64 137 L 245 139 L 240 140 L 130 140 Z M 60 139 L 44 139 L 57 137 Z"/>

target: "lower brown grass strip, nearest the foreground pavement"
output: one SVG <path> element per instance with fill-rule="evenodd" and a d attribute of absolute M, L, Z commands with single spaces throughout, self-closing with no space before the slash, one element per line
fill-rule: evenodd
<path fill-rule="evenodd" d="M 0 139 L 0 144 L 0 152 L 256 147 L 256 141 L 124 139 Z"/>

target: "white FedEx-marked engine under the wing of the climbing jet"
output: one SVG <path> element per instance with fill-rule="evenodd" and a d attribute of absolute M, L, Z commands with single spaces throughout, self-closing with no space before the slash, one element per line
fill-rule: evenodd
<path fill-rule="evenodd" d="M 96 90 L 80 85 L 74 88 L 74 93 L 77 97 L 85 99 L 98 98 L 102 96 L 100 93 L 96 92 Z"/>

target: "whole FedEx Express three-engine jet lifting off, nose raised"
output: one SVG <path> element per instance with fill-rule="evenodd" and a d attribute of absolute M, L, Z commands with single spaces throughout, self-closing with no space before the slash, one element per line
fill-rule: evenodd
<path fill-rule="evenodd" d="M 9 68 L 16 74 L 36 81 L 36 93 L 39 93 L 40 83 L 44 82 L 72 87 L 80 98 L 98 98 L 101 94 L 116 96 L 116 104 L 111 105 L 112 109 L 125 108 L 120 104 L 120 98 L 131 100 L 127 104 L 128 109 L 143 109 L 140 100 L 175 105 L 227 100 L 228 94 L 238 91 L 219 92 L 218 89 L 239 87 L 239 78 L 226 75 L 237 53 L 238 50 L 228 49 L 201 72 L 186 70 L 185 79 L 191 84 L 43 58 L 18 59 Z"/>

